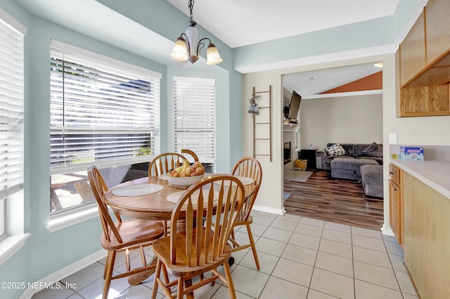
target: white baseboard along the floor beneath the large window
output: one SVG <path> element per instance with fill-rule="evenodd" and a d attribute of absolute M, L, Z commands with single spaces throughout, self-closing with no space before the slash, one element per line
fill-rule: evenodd
<path fill-rule="evenodd" d="M 72 265 L 68 265 L 68 267 L 64 267 L 63 269 L 53 272 L 52 274 L 44 277 L 43 279 L 39 279 L 39 282 L 45 284 L 53 284 L 57 281 L 60 281 L 61 279 L 65 279 L 66 277 L 74 274 L 75 272 L 78 272 L 79 270 L 84 269 L 91 264 L 94 264 L 94 262 L 98 262 L 98 260 L 101 260 L 103 257 L 106 257 L 107 253 L 108 251 L 106 250 L 103 249 L 99 250 L 96 253 L 93 253 L 87 257 L 82 258 L 81 260 L 78 260 L 77 262 L 74 262 Z M 23 292 L 23 294 L 19 297 L 19 299 L 31 299 L 35 293 L 41 290 L 42 289 L 39 288 L 27 288 L 25 292 Z"/>

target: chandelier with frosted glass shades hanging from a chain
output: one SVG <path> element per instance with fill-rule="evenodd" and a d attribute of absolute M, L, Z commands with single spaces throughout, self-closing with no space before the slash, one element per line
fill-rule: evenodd
<path fill-rule="evenodd" d="M 170 53 L 170 57 L 175 61 L 189 61 L 190 63 L 195 63 L 198 61 L 200 51 L 205 47 L 204 41 L 210 42 L 206 50 L 207 65 L 215 65 L 223 61 L 220 58 L 219 51 L 216 46 L 212 44 L 211 40 L 207 37 L 203 37 L 197 43 L 198 30 L 195 28 L 197 23 L 194 22 L 192 16 L 192 9 L 194 7 L 194 1 L 188 0 L 189 13 L 191 13 L 191 20 L 188 22 L 188 27 L 186 32 L 181 33 L 180 37 L 176 39 L 174 44 L 174 49 Z"/>

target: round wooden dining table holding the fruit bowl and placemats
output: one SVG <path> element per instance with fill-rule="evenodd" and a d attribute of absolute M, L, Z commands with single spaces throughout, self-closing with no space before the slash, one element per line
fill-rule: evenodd
<path fill-rule="evenodd" d="M 207 177 L 207 175 L 205 175 L 205 177 Z M 134 195 L 133 192 L 126 195 L 117 195 L 117 191 L 119 189 L 133 189 L 132 185 L 135 185 L 134 187 L 138 189 L 137 193 L 139 193 L 139 186 L 145 186 L 145 184 L 153 184 L 155 185 L 155 189 L 160 190 L 152 191 L 152 193 L 143 195 Z M 174 193 L 176 193 L 177 196 L 181 196 L 182 192 L 180 191 L 184 191 L 187 188 L 188 187 L 180 187 L 169 184 L 164 175 L 143 177 L 141 179 L 134 179 L 129 182 L 118 184 L 117 186 L 109 189 L 105 193 L 105 201 L 111 208 L 119 212 L 120 215 L 139 219 L 170 220 L 176 201 L 173 199 L 172 201 L 169 201 L 169 196 L 171 196 L 171 194 L 174 195 Z M 248 198 L 253 192 L 255 192 L 255 183 L 244 184 L 244 188 L 245 197 Z M 129 284 L 139 284 L 141 281 L 147 279 L 151 274 L 153 274 L 153 272 L 154 271 L 143 272 L 137 276 L 130 276 L 128 279 Z"/>

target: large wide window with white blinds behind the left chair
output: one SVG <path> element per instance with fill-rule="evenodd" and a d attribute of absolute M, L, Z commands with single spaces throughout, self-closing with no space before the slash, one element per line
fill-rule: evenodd
<path fill-rule="evenodd" d="M 86 170 L 107 184 L 160 148 L 159 73 L 52 41 L 51 212 L 95 201 Z"/>

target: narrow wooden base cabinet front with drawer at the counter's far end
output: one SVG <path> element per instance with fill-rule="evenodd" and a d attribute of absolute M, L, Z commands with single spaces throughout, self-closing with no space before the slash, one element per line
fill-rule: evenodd
<path fill-rule="evenodd" d="M 389 210 L 390 227 L 400 245 L 403 244 L 403 209 L 401 201 L 401 170 L 394 165 L 389 165 Z M 403 247 L 403 246 L 402 246 Z"/>

